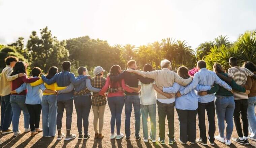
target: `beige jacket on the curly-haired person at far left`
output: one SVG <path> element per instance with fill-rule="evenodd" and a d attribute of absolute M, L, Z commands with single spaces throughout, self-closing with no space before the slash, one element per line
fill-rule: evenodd
<path fill-rule="evenodd" d="M 12 73 L 12 68 L 8 65 L 2 70 L 0 77 L 0 96 L 7 96 L 11 93 L 11 81 L 18 78 L 17 75 L 10 76 Z"/>

